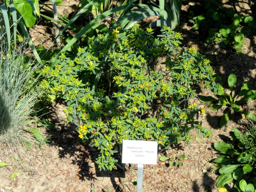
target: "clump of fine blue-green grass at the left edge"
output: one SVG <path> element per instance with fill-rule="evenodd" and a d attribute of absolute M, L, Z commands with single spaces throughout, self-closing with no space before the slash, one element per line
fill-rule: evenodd
<path fill-rule="evenodd" d="M 39 64 L 28 59 L 25 43 L 13 48 L 0 45 L 0 147 L 10 149 L 14 155 L 26 155 L 36 141 L 26 131 L 33 119 L 33 105 L 40 96 L 37 79 L 34 78 Z"/>

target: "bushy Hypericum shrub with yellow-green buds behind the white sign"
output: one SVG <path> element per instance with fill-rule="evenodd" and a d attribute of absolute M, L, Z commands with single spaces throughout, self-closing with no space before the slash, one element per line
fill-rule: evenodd
<path fill-rule="evenodd" d="M 216 86 L 208 59 L 194 47 L 181 52 L 181 34 L 164 27 L 153 36 L 138 25 L 108 35 L 89 38 L 74 57 L 62 53 L 42 72 L 41 86 L 49 94 L 65 99 L 66 121 L 77 125 L 83 141 L 92 141 L 100 156 L 99 170 L 117 169 L 115 153 L 123 139 L 154 140 L 168 146 L 199 136 L 210 137 L 210 130 L 197 121 L 205 112 L 188 99 L 193 86 Z M 163 73 L 155 69 L 159 57 L 166 57 Z"/>

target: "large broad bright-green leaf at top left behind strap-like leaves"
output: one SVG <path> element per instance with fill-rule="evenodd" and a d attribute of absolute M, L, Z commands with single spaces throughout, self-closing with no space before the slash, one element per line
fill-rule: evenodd
<path fill-rule="evenodd" d="M 29 2 L 26 0 L 14 0 L 13 2 L 15 8 L 21 14 L 26 27 L 33 27 L 35 25 L 36 18 L 33 15 L 33 9 Z"/>

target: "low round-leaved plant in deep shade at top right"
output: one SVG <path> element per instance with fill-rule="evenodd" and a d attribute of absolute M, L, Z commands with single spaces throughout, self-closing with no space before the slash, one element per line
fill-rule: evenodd
<path fill-rule="evenodd" d="M 221 47 L 233 45 L 235 50 L 242 50 L 242 43 L 251 29 L 255 28 L 254 18 L 248 15 L 235 14 L 233 8 L 226 9 L 217 1 L 205 3 L 206 13 L 194 17 L 189 13 L 192 29 L 201 30 L 207 35 L 205 45 L 216 43 Z"/>

